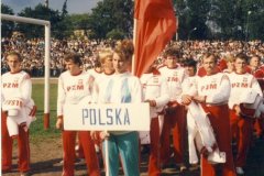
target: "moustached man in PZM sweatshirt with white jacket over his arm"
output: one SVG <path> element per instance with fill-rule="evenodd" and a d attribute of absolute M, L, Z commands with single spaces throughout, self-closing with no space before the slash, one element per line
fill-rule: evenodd
<path fill-rule="evenodd" d="M 228 99 L 230 96 L 230 81 L 228 77 L 218 73 L 217 57 L 207 53 L 204 56 L 202 66 L 207 73 L 204 77 L 197 77 L 196 96 L 183 96 L 183 102 L 188 105 L 191 100 L 199 102 L 208 113 L 211 127 L 220 152 L 226 153 L 227 162 L 222 165 L 223 176 L 235 175 L 231 148 L 231 132 L 229 122 Z M 195 92 L 195 91 L 193 91 Z M 215 176 L 216 168 L 207 161 L 206 153 L 201 154 L 201 175 Z"/>

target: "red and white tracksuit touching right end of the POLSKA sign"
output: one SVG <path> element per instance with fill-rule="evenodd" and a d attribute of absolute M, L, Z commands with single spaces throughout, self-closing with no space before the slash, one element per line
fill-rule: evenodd
<path fill-rule="evenodd" d="M 140 78 L 143 91 L 143 101 L 155 100 L 156 107 L 151 107 L 151 155 L 148 162 L 148 175 L 161 175 L 160 152 L 161 125 L 158 123 L 158 114 L 161 114 L 167 105 L 168 87 L 166 79 L 160 74 L 143 74 Z"/>

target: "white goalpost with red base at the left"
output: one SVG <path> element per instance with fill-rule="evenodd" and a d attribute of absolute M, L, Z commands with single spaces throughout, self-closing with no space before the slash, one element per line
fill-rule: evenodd
<path fill-rule="evenodd" d="M 1 20 L 15 21 L 44 25 L 45 28 L 45 76 L 44 76 L 44 129 L 50 128 L 50 51 L 51 51 L 51 22 L 32 18 L 23 18 L 1 13 Z"/>

